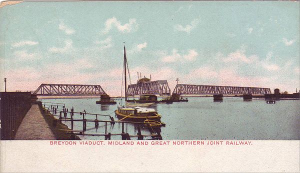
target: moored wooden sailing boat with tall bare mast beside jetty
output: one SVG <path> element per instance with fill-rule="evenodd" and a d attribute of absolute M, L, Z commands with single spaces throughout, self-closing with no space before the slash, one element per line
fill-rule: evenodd
<path fill-rule="evenodd" d="M 128 68 L 126 59 L 126 49 L 124 45 L 124 84 L 125 84 L 125 104 L 127 101 L 127 83 L 126 83 L 126 68 Z M 129 73 L 129 72 L 128 72 Z M 130 76 L 129 76 L 130 77 Z M 133 105 L 134 103 L 130 103 Z M 142 103 L 139 103 L 142 104 Z M 157 113 L 153 108 L 147 107 L 129 107 L 127 103 L 126 106 L 118 105 L 117 109 L 114 111 L 115 115 L 119 118 L 119 121 L 139 121 L 148 123 L 151 126 L 164 126 L 164 123 L 160 122 L 161 115 Z"/>

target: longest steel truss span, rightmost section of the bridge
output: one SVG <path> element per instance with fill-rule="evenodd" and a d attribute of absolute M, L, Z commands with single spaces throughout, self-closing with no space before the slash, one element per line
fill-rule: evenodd
<path fill-rule="evenodd" d="M 200 94 L 270 94 L 270 88 L 215 86 L 196 84 L 177 84 L 173 94 L 200 95 Z"/>

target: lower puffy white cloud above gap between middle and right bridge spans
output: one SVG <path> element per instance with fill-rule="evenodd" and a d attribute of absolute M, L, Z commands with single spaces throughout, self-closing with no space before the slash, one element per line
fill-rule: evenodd
<path fill-rule="evenodd" d="M 198 53 L 194 49 L 189 49 L 187 54 L 179 54 L 177 52 L 177 49 L 172 50 L 172 54 L 167 55 L 164 54 L 161 58 L 163 62 L 175 62 L 175 61 L 192 61 L 195 60 L 197 57 Z"/>

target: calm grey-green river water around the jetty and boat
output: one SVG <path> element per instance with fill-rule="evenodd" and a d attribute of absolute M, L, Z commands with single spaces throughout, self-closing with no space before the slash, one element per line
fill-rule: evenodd
<path fill-rule="evenodd" d="M 163 139 L 300 139 L 300 100 L 278 100 L 275 104 L 266 104 L 264 99 L 243 101 L 241 97 L 223 97 L 222 102 L 213 102 L 212 97 L 189 97 L 188 102 L 155 104 L 152 108 L 162 115 L 161 127 Z M 95 98 L 80 99 L 43 99 L 43 101 L 65 103 L 65 107 L 74 111 L 86 110 L 87 113 L 109 114 L 117 120 L 113 111 L 116 105 L 96 104 Z M 119 100 L 117 100 L 117 103 Z M 77 115 L 77 117 L 80 117 Z M 87 119 L 95 119 L 88 115 Z M 108 117 L 98 117 L 110 120 Z M 70 122 L 63 121 L 70 127 Z M 82 122 L 74 122 L 74 129 L 82 130 Z M 85 133 L 104 133 L 105 125 L 87 123 Z M 124 127 L 125 132 L 136 134 L 132 124 Z M 149 134 L 142 128 L 142 134 Z M 110 125 L 108 132 L 120 133 L 121 124 Z M 104 139 L 103 136 L 80 136 L 82 139 Z M 120 139 L 120 136 L 111 139 Z"/>

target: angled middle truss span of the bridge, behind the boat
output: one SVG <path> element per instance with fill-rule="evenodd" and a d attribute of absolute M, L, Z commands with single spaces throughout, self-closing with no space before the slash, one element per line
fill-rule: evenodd
<path fill-rule="evenodd" d="M 135 84 L 128 85 L 127 95 L 141 94 L 170 95 L 170 88 L 166 80 L 137 82 Z"/>

